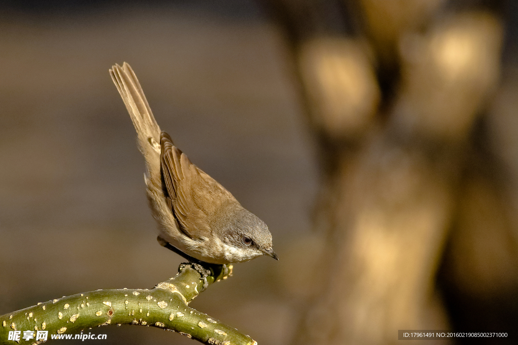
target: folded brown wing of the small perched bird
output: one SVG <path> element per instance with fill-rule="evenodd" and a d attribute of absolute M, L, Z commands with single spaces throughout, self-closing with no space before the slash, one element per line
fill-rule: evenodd
<path fill-rule="evenodd" d="M 212 177 L 196 167 L 173 143 L 166 132 L 160 136 L 162 187 L 180 230 L 193 239 L 211 233 L 210 217 L 234 199 Z"/>

